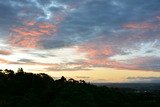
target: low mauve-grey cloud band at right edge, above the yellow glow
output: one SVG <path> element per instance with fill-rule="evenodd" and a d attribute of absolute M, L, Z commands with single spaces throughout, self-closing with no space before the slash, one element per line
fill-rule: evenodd
<path fill-rule="evenodd" d="M 115 62 L 115 66 L 113 66 L 113 68 L 156 72 L 160 71 L 159 57 L 136 57 L 125 61 L 122 60 Z"/>

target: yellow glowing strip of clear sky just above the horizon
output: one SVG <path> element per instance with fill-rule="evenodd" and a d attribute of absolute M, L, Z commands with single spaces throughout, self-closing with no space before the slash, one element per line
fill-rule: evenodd
<path fill-rule="evenodd" d="M 26 70 L 31 72 L 30 70 Z M 67 79 L 85 80 L 91 83 L 150 83 L 150 78 L 139 80 L 139 77 L 160 77 L 159 72 L 140 70 L 119 70 L 114 68 L 94 68 L 88 71 L 33 71 L 33 73 L 46 73 L 54 79 L 65 76 Z M 129 78 L 137 78 L 132 80 Z"/>

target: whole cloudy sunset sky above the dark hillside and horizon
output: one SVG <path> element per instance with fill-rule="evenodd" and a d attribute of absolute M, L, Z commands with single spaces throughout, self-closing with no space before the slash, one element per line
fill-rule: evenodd
<path fill-rule="evenodd" d="M 0 69 L 160 82 L 160 0 L 0 0 Z"/>

